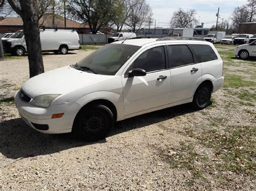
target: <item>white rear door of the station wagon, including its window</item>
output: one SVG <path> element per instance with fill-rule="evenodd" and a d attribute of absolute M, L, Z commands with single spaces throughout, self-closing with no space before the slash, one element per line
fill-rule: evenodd
<path fill-rule="evenodd" d="M 187 44 L 167 45 L 171 72 L 171 102 L 193 97 L 201 83 L 202 68 L 194 63 L 193 54 Z"/>

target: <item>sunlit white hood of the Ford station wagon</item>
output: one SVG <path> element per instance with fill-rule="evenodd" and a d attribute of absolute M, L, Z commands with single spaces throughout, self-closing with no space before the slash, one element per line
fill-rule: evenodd
<path fill-rule="evenodd" d="M 66 94 L 107 77 L 66 66 L 32 77 L 23 84 L 22 90 L 32 98 L 45 94 Z"/>

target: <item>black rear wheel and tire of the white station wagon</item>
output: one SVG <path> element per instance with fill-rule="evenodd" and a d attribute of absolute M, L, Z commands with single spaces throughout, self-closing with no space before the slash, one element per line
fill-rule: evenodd
<path fill-rule="evenodd" d="M 196 110 L 205 109 L 211 100 L 211 88 L 207 84 L 201 84 L 194 94 L 192 106 Z"/>

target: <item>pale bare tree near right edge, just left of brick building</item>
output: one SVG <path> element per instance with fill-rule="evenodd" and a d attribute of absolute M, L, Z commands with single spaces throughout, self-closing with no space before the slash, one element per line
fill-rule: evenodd
<path fill-rule="evenodd" d="M 245 5 L 238 6 L 232 13 L 233 28 L 238 29 L 239 23 L 250 22 L 250 12 Z"/>

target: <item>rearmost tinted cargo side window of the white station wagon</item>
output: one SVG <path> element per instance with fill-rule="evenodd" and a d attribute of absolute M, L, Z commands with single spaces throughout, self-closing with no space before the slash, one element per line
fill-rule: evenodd
<path fill-rule="evenodd" d="M 208 62 L 212 60 L 218 60 L 218 56 L 209 45 L 189 45 L 198 62 Z"/>

